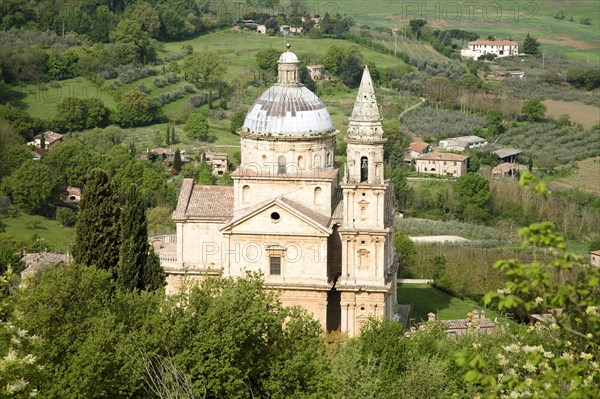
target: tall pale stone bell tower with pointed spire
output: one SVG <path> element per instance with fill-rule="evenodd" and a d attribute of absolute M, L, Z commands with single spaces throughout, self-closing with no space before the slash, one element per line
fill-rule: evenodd
<path fill-rule="evenodd" d="M 394 192 L 383 169 L 383 124 L 368 67 L 348 126 L 347 164 L 340 183 L 343 216 L 342 330 L 359 332 L 368 317 L 392 317 L 396 304 Z"/>

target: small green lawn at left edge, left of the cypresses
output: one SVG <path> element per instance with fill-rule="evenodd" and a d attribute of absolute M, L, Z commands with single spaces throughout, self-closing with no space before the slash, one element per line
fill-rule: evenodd
<path fill-rule="evenodd" d="M 39 249 L 66 252 L 75 240 L 75 230 L 63 227 L 54 220 L 43 216 L 21 213 L 19 216 L 0 216 L 0 231 L 10 234 L 25 244 L 39 244 Z M 39 241 L 34 239 L 37 235 Z"/>

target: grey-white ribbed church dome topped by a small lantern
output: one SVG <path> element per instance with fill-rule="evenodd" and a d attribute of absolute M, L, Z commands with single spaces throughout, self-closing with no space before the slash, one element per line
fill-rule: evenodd
<path fill-rule="evenodd" d="M 242 131 L 285 136 L 333 131 L 333 122 L 325 104 L 299 82 L 296 54 L 289 50 L 284 52 L 278 64 L 278 82 L 265 90 L 252 105 Z"/>

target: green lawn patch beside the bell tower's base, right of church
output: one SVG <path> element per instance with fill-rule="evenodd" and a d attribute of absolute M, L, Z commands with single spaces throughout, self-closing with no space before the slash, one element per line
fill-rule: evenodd
<path fill-rule="evenodd" d="M 415 321 L 427 320 L 427 313 L 433 312 L 439 320 L 464 319 L 467 313 L 483 307 L 471 300 L 462 300 L 446 294 L 429 284 L 398 284 L 398 303 L 412 304 L 411 317 Z M 487 317 L 506 320 L 502 315 L 486 309 Z"/>

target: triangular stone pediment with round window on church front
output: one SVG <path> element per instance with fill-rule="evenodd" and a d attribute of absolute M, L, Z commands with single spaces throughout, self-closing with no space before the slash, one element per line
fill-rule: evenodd
<path fill-rule="evenodd" d="M 298 235 L 326 237 L 332 233 L 328 228 L 329 217 L 302 205 L 279 197 L 250 208 L 221 228 L 224 233 L 257 235 Z"/>

